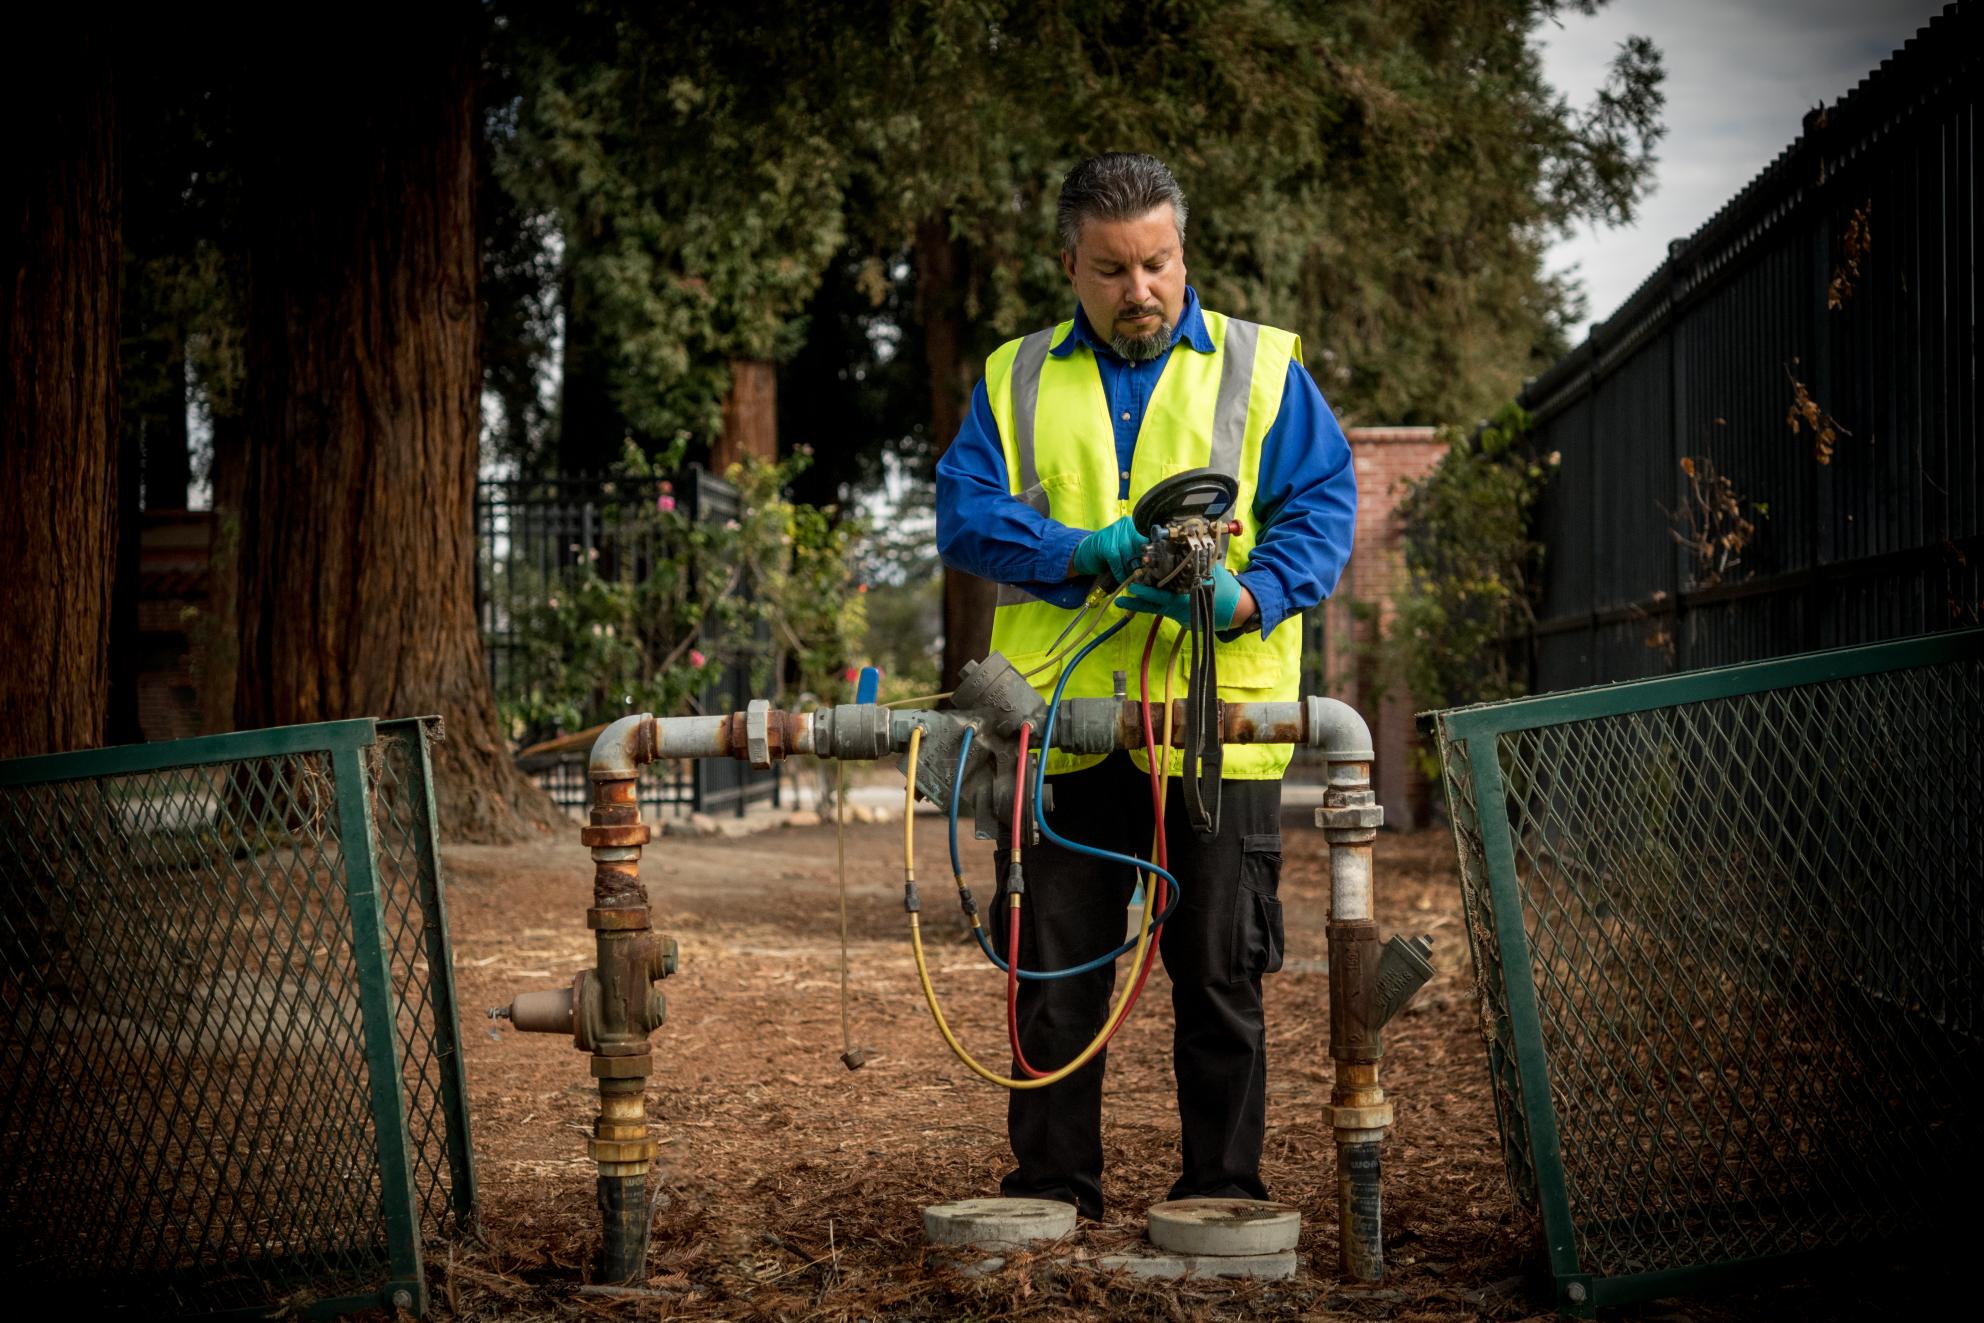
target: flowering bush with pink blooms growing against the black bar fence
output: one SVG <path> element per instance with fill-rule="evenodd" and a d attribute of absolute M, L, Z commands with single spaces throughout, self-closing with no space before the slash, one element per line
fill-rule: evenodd
<path fill-rule="evenodd" d="M 718 524 L 690 520 L 663 470 L 629 446 L 615 488 L 627 500 L 599 512 L 613 530 L 605 567 L 597 549 L 552 575 L 498 567 L 516 579 L 512 601 L 530 603 L 516 633 L 532 682 L 498 694 L 512 738 L 694 710 L 724 664 L 748 666 L 768 696 L 839 694 L 865 631 L 849 573 L 859 530 L 782 496 L 804 462 L 732 466 L 742 514 Z"/>

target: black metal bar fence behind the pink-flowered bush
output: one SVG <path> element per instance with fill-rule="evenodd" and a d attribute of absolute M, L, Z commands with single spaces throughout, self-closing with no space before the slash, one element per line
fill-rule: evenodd
<path fill-rule="evenodd" d="M 486 478 L 476 484 L 476 621 L 498 702 L 542 680 L 526 639 L 530 597 L 559 585 L 569 589 L 587 575 L 679 573 L 663 553 L 653 522 L 645 520 L 663 496 L 675 500 L 677 512 L 688 520 L 724 524 L 742 514 L 738 490 L 694 466 L 669 484 L 597 476 Z M 734 712 L 760 696 L 752 688 L 752 662 L 768 647 L 764 637 L 708 641 L 710 682 L 696 696 L 696 708 Z M 561 732 L 528 728 L 520 744 L 556 734 Z M 583 752 L 530 760 L 526 772 L 559 805 L 583 813 L 589 793 Z M 722 758 L 665 766 L 641 780 L 641 803 L 651 813 L 742 815 L 758 801 L 778 803 L 778 776 Z"/>

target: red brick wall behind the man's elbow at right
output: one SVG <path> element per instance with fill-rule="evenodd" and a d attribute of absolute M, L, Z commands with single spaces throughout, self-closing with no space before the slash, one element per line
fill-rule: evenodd
<path fill-rule="evenodd" d="M 1377 762 L 1371 770 L 1385 823 L 1411 829 L 1428 817 L 1428 787 L 1413 768 L 1417 710 L 1413 696 L 1385 686 L 1375 647 L 1389 629 L 1391 599 L 1405 581 L 1405 528 L 1397 506 L 1403 478 L 1421 478 L 1446 442 L 1430 426 L 1353 426 L 1357 466 L 1357 541 L 1349 565 L 1319 621 L 1319 670 L 1325 694 L 1341 698 L 1371 722 Z"/>

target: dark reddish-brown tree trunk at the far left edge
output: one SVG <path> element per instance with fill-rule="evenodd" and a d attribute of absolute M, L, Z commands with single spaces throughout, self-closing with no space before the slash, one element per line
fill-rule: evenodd
<path fill-rule="evenodd" d="M 87 28 L 14 38 L 0 61 L 18 129 L 0 171 L 0 758 L 103 742 L 117 559 L 111 56 Z"/>

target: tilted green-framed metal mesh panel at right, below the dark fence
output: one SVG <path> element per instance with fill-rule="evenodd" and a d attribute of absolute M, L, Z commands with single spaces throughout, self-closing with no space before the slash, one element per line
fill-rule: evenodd
<path fill-rule="evenodd" d="M 1984 631 L 1434 726 L 1561 1309 L 1974 1228 Z"/>

